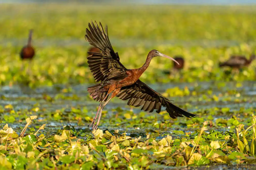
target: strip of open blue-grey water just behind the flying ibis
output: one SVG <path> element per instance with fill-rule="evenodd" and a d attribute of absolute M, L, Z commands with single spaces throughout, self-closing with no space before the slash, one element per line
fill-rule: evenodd
<path fill-rule="evenodd" d="M 239 98 L 251 98 L 253 99 L 256 97 L 256 86 L 255 82 L 252 81 L 245 81 L 242 83 L 241 87 L 236 87 L 237 82 L 228 82 L 226 83 L 225 87 L 218 87 L 218 83 L 214 82 L 200 82 L 198 83 L 168 83 L 168 84 L 149 84 L 150 87 L 152 87 L 154 90 L 158 91 L 159 93 L 164 93 L 166 89 L 168 88 L 174 88 L 178 86 L 180 89 L 183 89 L 184 87 L 189 87 L 190 91 L 197 91 L 199 94 L 204 94 L 207 90 L 212 90 L 212 95 L 218 96 L 219 94 L 225 93 L 227 90 L 236 90 L 237 93 L 240 93 Z M 73 85 L 70 88 L 72 89 L 71 92 L 65 93 L 65 96 L 72 96 L 76 95 L 78 98 L 81 98 L 82 100 L 87 100 L 85 97 L 88 95 L 87 87 L 91 86 L 91 84 L 80 84 L 80 85 Z M 1 100 L 0 105 L 4 106 L 7 103 L 12 103 L 15 105 L 18 105 L 20 102 L 19 100 L 22 98 L 26 98 L 26 102 L 23 102 L 23 105 L 30 105 L 35 102 L 43 102 L 41 100 L 43 99 L 43 95 L 48 95 L 50 97 L 54 97 L 61 93 L 61 89 L 64 88 L 62 85 L 53 86 L 53 87 L 41 87 L 36 89 L 30 89 L 26 86 L 3 86 L 0 88 L 0 95 L 5 96 L 9 100 Z M 211 96 L 212 96 L 211 95 Z M 200 98 L 201 95 L 197 96 L 196 98 Z M 176 101 L 175 103 L 185 103 L 190 102 L 192 104 L 195 104 L 197 107 L 201 108 L 211 108 L 212 106 L 222 107 L 223 105 L 229 106 L 230 109 L 237 108 L 237 106 L 244 105 L 246 107 L 256 106 L 256 103 L 237 103 L 233 101 L 229 102 L 204 102 L 204 101 L 197 101 L 195 97 L 192 96 L 184 96 L 184 97 L 171 97 L 170 99 Z M 233 98 L 237 98 L 233 96 Z M 33 100 L 29 100 L 33 99 Z M 34 101 L 36 99 L 36 101 Z M 72 104 L 74 107 L 77 105 L 80 105 L 84 103 L 85 101 L 81 101 L 81 99 L 77 101 L 72 101 Z M 69 104 L 70 101 L 67 101 L 66 99 L 58 99 L 57 100 L 59 104 L 65 105 Z M 96 106 L 98 103 L 94 101 L 86 101 L 89 102 L 90 105 Z M 57 104 L 56 103 L 56 104 Z M 114 99 L 115 104 L 120 104 L 122 106 L 125 106 L 126 101 L 122 101 L 116 98 Z M 110 104 L 111 105 L 111 102 Z"/>

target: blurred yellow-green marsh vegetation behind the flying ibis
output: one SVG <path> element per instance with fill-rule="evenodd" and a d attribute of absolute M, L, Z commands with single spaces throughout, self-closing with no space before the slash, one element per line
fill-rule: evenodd
<path fill-rule="evenodd" d="M 1 85 L 31 87 L 93 83 L 84 39 L 88 22 L 108 25 L 109 38 L 126 68 L 138 68 L 151 49 L 183 55 L 185 68 L 168 75 L 173 64 L 156 57 L 141 80 L 156 82 L 255 80 L 256 62 L 239 73 L 227 74 L 219 61 L 232 54 L 255 53 L 255 6 L 207 5 L 89 5 L 81 3 L 1 4 Z M 36 55 L 32 75 L 21 71 L 20 49 L 34 29 Z M 24 62 L 26 67 L 28 64 Z"/>

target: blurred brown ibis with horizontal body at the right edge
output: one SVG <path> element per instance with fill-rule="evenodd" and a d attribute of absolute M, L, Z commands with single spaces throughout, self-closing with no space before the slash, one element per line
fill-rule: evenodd
<path fill-rule="evenodd" d="M 227 61 L 220 62 L 219 67 L 228 66 L 231 68 L 242 68 L 248 66 L 255 59 L 255 54 L 251 54 L 250 59 L 248 60 L 245 56 L 231 56 Z"/>

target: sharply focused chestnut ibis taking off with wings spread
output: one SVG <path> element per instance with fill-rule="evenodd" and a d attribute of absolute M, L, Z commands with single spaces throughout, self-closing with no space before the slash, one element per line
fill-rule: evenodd
<path fill-rule="evenodd" d="M 162 106 L 166 107 L 166 111 L 169 113 L 170 117 L 174 119 L 183 116 L 200 117 L 174 105 L 171 100 L 157 93 L 139 79 L 154 57 L 162 56 L 175 61 L 173 58 L 157 50 L 151 50 L 147 55 L 146 62 L 141 68 L 126 69 L 120 62 L 118 53 L 114 52 L 110 44 L 108 27 L 106 26 L 104 31 L 101 23 L 98 25 L 96 21 L 95 24 L 91 22 L 88 26 L 90 30 L 86 29 L 85 39 L 90 45 L 102 51 L 101 53 L 88 52 L 90 55 L 87 57 L 89 68 L 95 81 L 100 82 L 87 89 L 90 96 L 100 102 L 98 111 L 92 123 L 89 125 L 92 125 L 92 130 L 97 129 L 101 112 L 113 97 L 128 100 L 128 105 L 135 107 L 142 106 L 141 110 L 148 112 L 156 110 L 156 112 L 159 113 Z M 110 98 L 108 98 L 110 93 L 112 94 Z M 103 102 L 105 103 L 103 104 Z M 98 114 L 99 117 L 96 123 Z"/>

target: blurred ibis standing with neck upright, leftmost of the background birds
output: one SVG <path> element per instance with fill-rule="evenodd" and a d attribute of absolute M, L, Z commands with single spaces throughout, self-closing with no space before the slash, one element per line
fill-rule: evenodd
<path fill-rule="evenodd" d="M 35 55 L 35 49 L 31 46 L 32 33 L 33 33 L 33 30 L 29 30 L 28 44 L 24 46 L 20 51 L 20 58 L 22 60 L 29 60 L 29 63 L 31 62 L 31 60 Z M 29 67 L 28 67 L 28 70 L 30 70 Z M 22 68 L 23 68 L 23 63 L 22 63 Z"/>

